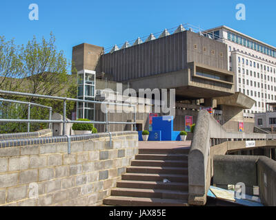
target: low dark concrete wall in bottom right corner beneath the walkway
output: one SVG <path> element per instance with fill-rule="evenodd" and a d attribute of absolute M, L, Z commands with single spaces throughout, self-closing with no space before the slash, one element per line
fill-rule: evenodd
<path fill-rule="evenodd" d="M 246 194 L 253 195 L 259 186 L 259 197 L 266 206 L 276 206 L 276 162 L 265 156 L 215 155 L 213 184 L 227 188 L 242 182 Z"/>

